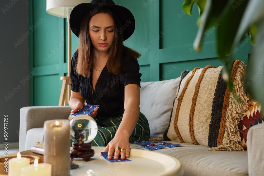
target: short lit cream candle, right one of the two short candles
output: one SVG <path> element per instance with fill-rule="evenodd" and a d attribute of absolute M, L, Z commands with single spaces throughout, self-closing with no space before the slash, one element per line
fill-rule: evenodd
<path fill-rule="evenodd" d="M 51 164 L 38 163 L 35 159 L 34 164 L 30 164 L 21 169 L 21 173 L 24 176 L 51 176 Z"/>

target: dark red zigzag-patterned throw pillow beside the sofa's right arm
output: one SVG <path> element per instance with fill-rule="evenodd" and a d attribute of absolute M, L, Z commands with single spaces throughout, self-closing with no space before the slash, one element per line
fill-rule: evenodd
<path fill-rule="evenodd" d="M 239 144 L 242 145 L 245 149 L 247 148 L 247 132 L 250 127 L 257 125 L 263 122 L 263 115 L 260 113 L 261 105 L 254 99 L 250 99 L 249 109 L 246 112 L 246 115 L 243 117 L 243 120 L 239 123 L 239 132 L 241 136 L 241 141 Z"/>

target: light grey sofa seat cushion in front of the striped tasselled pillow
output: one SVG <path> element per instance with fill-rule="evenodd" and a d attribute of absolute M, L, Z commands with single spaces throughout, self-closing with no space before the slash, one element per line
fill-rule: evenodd
<path fill-rule="evenodd" d="M 183 146 L 152 150 L 177 158 L 184 169 L 183 175 L 192 176 L 244 176 L 248 175 L 247 150 L 245 151 L 211 151 L 208 147 L 191 143 L 167 141 Z M 133 149 L 145 149 L 130 144 Z M 157 168 L 159 170 L 161 168 Z"/>

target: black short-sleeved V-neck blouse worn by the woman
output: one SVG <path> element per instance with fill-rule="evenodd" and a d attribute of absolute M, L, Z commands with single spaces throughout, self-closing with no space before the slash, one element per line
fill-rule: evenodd
<path fill-rule="evenodd" d="M 125 86 L 128 84 L 138 84 L 140 87 L 140 77 L 138 60 L 132 56 L 125 56 L 123 59 L 121 73 L 109 73 L 107 67 L 102 69 L 101 74 L 92 88 L 92 67 L 90 77 L 83 77 L 75 72 L 78 51 L 73 54 L 71 61 L 70 80 L 71 90 L 80 92 L 87 104 L 100 105 L 98 116 L 113 117 L 124 113 Z M 91 79 L 90 79 L 91 78 Z"/>

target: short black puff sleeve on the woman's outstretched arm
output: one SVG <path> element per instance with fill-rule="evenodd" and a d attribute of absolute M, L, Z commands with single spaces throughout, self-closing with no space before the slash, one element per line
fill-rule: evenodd
<path fill-rule="evenodd" d="M 122 64 L 120 82 L 124 84 L 124 87 L 128 84 L 138 84 L 140 87 L 141 75 L 139 73 L 138 60 L 131 56 L 126 56 Z"/>

